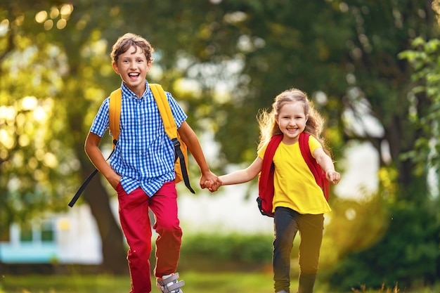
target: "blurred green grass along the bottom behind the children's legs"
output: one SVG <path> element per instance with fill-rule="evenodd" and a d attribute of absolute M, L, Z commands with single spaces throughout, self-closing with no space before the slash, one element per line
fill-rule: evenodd
<path fill-rule="evenodd" d="M 185 280 L 185 293 L 271 293 L 273 292 L 272 274 L 267 273 L 200 273 L 184 271 L 181 277 Z M 154 279 L 153 279 L 154 280 Z M 292 292 L 296 292 L 297 282 L 292 280 Z M 0 293 L 128 293 L 129 276 L 114 275 L 2 275 Z M 153 293 L 159 291 L 153 286 Z M 382 288 L 365 289 L 365 293 L 439 293 L 440 285 L 434 288 L 422 288 L 414 291 L 404 289 Z M 349 293 L 331 292 L 325 285 L 317 282 L 315 293 Z"/>

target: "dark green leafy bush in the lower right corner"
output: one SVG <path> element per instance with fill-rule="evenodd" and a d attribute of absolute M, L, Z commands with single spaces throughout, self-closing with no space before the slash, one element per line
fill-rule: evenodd
<path fill-rule="evenodd" d="M 440 218 L 433 206 L 399 202 L 388 207 L 387 233 L 372 247 L 337 263 L 330 284 L 342 290 L 365 284 L 432 285 L 440 276 Z"/>

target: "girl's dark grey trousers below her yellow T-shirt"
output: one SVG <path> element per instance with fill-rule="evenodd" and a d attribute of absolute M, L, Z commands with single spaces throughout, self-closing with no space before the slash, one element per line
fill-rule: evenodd
<path fill-rule="evenodd" d="M 281 290 L 290 292 L 290 254 L 298 231 L 301 238 L 299 242 L 299 292 L 313 292 L 323 229 L 323 214 L 299 214 L 287 207 L 275 209 L 272 260 L 275 292 Z M 309 282 L 301 282 L 304 280 L 301 275 Z"/>

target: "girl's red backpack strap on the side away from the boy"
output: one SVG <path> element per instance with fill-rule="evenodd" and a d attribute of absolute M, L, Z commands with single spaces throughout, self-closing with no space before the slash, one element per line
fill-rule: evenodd
<path fill-rule="evenodd" d="M 316 159 L 311 155 L 309 137 L 310 134 L 306 134 L 305 132 L 299 134 L 299 149 L 301 150 L 302 157 L 304 158 L 304 161 L 306 161 L 307 166 L 309 166 L 311 173 L 313 176 L 315 176 L 316 184 L 321 187 L 325 200 L 328 201 L 330 194 L 330 183 L 325 178 L 325 173 L 321 166 L 319 166 L 318 162 L 316 162 Z"/>

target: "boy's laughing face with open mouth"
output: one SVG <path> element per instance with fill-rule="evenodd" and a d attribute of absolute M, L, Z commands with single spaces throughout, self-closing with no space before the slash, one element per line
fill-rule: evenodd
<path fill-rule="evenodd" d="M 118 56 L 116 63 L 113 63 L 115 72 L 138 97 L 145 92 L 145 77 L 150 67 L 151 61 L 147 60 L 143 50 L 137 46 L 131 46 Z"/>

